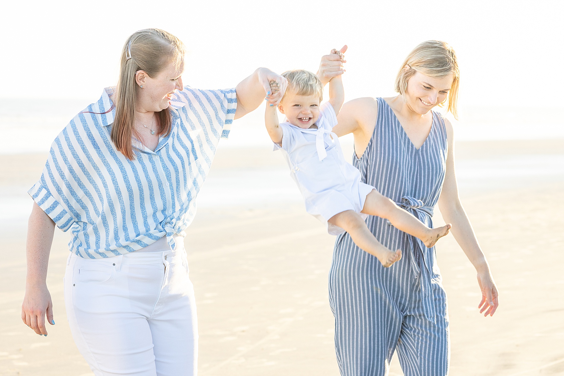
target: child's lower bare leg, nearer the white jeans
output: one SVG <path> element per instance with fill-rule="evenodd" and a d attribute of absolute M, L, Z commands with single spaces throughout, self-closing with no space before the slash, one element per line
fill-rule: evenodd
<path fill-rule="evenodd" d="M 372 232 L 366 227 L 362 217 L 354 210 L 343 211 L 342 213 L 333 215 L 329 219 L 329 223 L 341 227 L 352 238 L 361 249 L 369 254 L 376 256 L 385 268 L 402 258 L 402 251 L 390 251 L 376 240 Z"/>

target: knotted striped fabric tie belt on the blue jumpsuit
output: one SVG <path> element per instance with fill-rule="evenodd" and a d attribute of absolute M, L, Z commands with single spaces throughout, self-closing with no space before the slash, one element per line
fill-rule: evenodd
<path fill-rule="evenodd" d="M 396 205 L 402 207 L 403 209 L 409 211 L 422 223 L 426 223 L 425 216 L 429 216 L 429 219 L 433 216 L 433 206 L 425 205 L 423 201 L 417 200 L 411 196 L 403 196 L 400 202 L 396 202 Z M 411 267 L 415 272 L 421 272 L 420 286 L 421 286 L 421 302 L 423 306 L 423 311 L 425 312 L 425 318 L 433 323 L 437 322 L 437 309 L 435 309 L 433 286 L 432 286 L 432 271 L 433 271 L 433 257 L 427 255 L 429 248 L 425 246 L 422 240 L 416 238 L 415 236 L 408 235 L 409 245 L 413 253 L 411 258 Z M 416 250 L 420 252 L 422 264 L 417 265 L 416 261 Z M 431 264 L 429 264 L 431 263 Z"/>

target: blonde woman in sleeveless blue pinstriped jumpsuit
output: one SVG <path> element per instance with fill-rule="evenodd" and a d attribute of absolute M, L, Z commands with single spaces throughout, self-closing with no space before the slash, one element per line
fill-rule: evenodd
<path fill-rule="evenodd" d="M 323 69 L 320 70 L 320 76 Z M 462 208 L 456 185 L 451 123 L 431 110 L 448 101 L 456 117 L 459 69 L 444 42 L 423 42 L 409 54 L 396 78 L 394 98 L 359 98 L 343 105 L 334 132 L 354 134 L 353 164 L 363 182 L 433 227 L 438 203 L 452 233 L 478 273 L 480 306 L 497 308 L 490 268 Z M 390 268 L 352 242 L 336 240 L 329 273 L 335 316 L 335 347 L 342 375 L 385 375 L 398 351 L 406 376 L 448 374 L 446 294 L 433 248 L 376 216 L 368 228 L 403 258 Z"/>

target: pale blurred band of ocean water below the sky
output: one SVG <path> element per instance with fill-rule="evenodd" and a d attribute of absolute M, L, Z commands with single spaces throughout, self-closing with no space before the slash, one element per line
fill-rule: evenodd
<path fill-rule="evenodd" d="M 46 153 L 52 141 L 87 100 L 1 99 L 0 154 Z M 443 110 L 440 109 L 439 110 Z M 509 107 L 461 108 L 460 120 L 453 120 L 457 141 L 562 139 L 564 121 L 559 108 Z M 222 148 L 270 147 L 263 123 L 263 109 L 233 122 Z M 341 143 L 352 143 L 351 135 Z"/>

